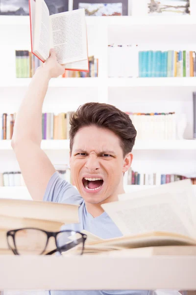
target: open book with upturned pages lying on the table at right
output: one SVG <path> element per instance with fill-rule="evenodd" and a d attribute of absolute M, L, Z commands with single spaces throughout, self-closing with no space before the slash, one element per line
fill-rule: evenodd
<path fill-rule="evenodd" d="M 118 202 L 101 206 L 123 236 L 101 239 L 84 231 L 87 235 L 84 253 L 154 246 L 196 246 L 196 196 L 190 179 L 120 195 Z"/>

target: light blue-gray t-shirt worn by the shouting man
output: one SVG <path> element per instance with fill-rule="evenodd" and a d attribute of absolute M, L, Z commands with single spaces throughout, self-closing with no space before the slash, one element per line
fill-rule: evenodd
<path fill-rule="evenodd" d="M 93 217 L 86 210 L 85 202 L 72 184 L 63 180 L 58 172 L 55 172 L 49 180 L 44 195 L 44 201 L 78 204 L 79 223 L 62 226 L 62 230 L 87 230 L 101 238 L 122 236 L 121 231 L 112 219 L 103 212 L 98 217 Z M 77 279 L 77 278 L 75 278 Z M 51 295 L 148 295 L 148 291 L 50 291 Z"/>

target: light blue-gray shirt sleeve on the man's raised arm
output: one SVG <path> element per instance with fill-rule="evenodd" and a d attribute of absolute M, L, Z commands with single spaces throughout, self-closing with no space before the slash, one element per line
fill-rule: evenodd
<path fill-rule="evenodd" d="M 81 205 L 83 199 L 76 188 L 56 171 L 49 179 L 43 201 Z"/>

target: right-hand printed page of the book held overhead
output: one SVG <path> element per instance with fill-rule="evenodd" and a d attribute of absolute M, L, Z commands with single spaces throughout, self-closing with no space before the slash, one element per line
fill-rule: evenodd
<path fill-rule="evenodd" d="M 84 9 L 49 16 L 50 47 L 60 64 L 88 59 Z"/>

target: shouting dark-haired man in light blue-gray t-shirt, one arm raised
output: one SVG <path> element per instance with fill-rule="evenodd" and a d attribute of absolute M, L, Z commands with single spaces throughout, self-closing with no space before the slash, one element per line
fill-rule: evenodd
<path fill-rule="evenodd" d="M 128 115 L 113 106 L 99 103 L 81 106 L 70 120 L 70 167 L 78 191 L 61 179 L 40 146 L 42 105 L 49 79 L 63 73 L 63 66 L 58 64 L 55 52 L 51 50 L 49 59 L 38 68 L 32 78 L 17 113 L 12 148 L 16 153 L 25 184 L 33 200 L 80 205 L 80 223 L 64 226 L 63 229 L 85 229 L 101 238 L 122 236 L 100 205 L 118 200 L 123 174 L 131 166 L 131 150 L 136 130 Z M 147 295 L 148 291 L 62 293 Z"/>

